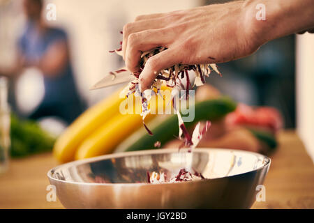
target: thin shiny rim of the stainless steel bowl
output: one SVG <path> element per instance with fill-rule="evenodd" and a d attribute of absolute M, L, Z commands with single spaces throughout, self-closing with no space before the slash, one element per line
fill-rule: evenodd
<path fill-rule="evenodd" d="M 198 151 L 202 151 L 202 150 L 207 150 L 207 151 L 229 151 L 229 152 L 235 152 L 235 153 L 250 153 L 251 155 L 256 155 L 259 157 L 262 157 L 264 160 L 267 160 L 267 162 L 265 162 L 265 164 L 262 165 L 262 167 L 258 167 L 257 169 L 253 169 L 251 171 L 246 171 L 243 172 L 241 174 L 248 174 L 254 171 L 258 171 L 260 169 L 263 169 L 267 166 L 269 166 L 271 164 L 271 158 L 267 157 L 266 155 L 262 155 L 260 153 L 254 153 L 251 151 L 242 151 L 242 150 L 238 150 L 238 149 L 230 149 L 230 148 L 196 148 L 195 150 Z M 47 172 L 47 177 L 50 180 L 56 180 L 59 181 L 61 183 L 71 183 L 71 184 L 79 184 L 79 185 L 103 185 L 103 186 L 135 186 L 135 185 L 149 185 L 149 186 L 158 186 L 158 185 L 176 185 L 177 183 L 160 183 L 160 184 L 151 184 L 151 183 L 89 183 L 89 182 L 75 182 L 75 181 L 67 181 L 67 180 L 61 180 L 61 179 L 57 179 L 57 178 L 53 178 L 52 177 L 52 172 L 54 172 L 56 169 L 59 169 L 61 167 L 66 167 L 66 166 L 73 166 L 73 164 L 75 164 L 74 166 L 80 165 L 80 164 L 85 164 L 91 161 L 99 161 L 99 160 L 108 160 L 108 159 L 112 159 L 112 158 L 119 158 L 119 157 L 126 157 L 126 156 L 132 156 L 132 155 L 152 155 L 152 154 L 158 154 L 158 153 L 173 153 L 173 152 L 179 152 L 179 153 L 183 153 L 184 151 L 188 151 L 188 149 L 186 148 L 181 148 L 180 151 L 178 150 L 178 148 L 163 148 L 163 149 L 148 149 L 145 151 L 130 151 L 130 152 L 123 152 L 123 153 L 113 153 L 113 154 L 107 154 L 107 155 L 100 155 L 97 157 L 91 157 L 91 158 L 86 158 L 83 160 L 75 160 L 72 162 L 67 162 L 65 164 L 60 164 L 57 167 L 54 167 L 52 169 L 50 169 Z M 241 174 L 234 174 L 232 176 L 239 176 Z M 210 178 L 210 179 L 205 179 L 205 180 L 194 180 L 194 181 L 184 181 L 184 182 L 180 182 L 180 183 L 198 183 L 198 182 L 206 182 L 209 180 L 216 180 L 216 179 L 223 179 L 223 178 L 228 178 L 231 176 L 222 176 L 222 177 L 218 177 L 218 178 Z"/>

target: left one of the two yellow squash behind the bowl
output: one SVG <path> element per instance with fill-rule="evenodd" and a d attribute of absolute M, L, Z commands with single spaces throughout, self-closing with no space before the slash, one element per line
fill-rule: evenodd
<path fill-rule="evenodd" d="M 59 162 L 74 160 L 75 151 L 82 141 L 119 113 L 119 105 L 124 100 L 119 98 L 120 92 L 121 89 L 87 109 L 60 135 L 53 149 Z"/>

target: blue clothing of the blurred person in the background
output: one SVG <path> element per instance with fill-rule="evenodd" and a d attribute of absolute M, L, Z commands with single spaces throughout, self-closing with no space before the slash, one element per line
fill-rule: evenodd
<path fill-rule="evenodd" d="M 47 28 L 44 33 L 38 33 L 33 22 L 27 22 L 27 26 L 19 40 L 20 52 L 23 54 L 27 63 L 38 61 L 48 47 L 56 41 L 63 40 L 68 43 L 66 33 L 61 29 Z M 73 69 L 70 61 L 54 77 L 47 77 L 44 74 L 45 96 L 42 103 L 78 103 L 80 101 L 75 80 L 73 78 Z"/>

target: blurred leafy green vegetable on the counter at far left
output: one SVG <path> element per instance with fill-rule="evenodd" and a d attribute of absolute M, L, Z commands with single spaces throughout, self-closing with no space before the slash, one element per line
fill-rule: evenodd
<path fill-rule="evenodd" d="M 10 138 L 11 157 L 51 151 L 55 141 L 36 121 L 20 120 L 14 114 L 11 115 Z"/>

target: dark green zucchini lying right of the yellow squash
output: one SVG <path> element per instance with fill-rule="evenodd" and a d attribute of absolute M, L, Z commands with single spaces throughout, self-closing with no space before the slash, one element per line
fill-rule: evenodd
<path fill-rule="evenodd" d="M 222 118 L 229 112 L 233 112 L 236 108 L 236 103 L 227 97 L 222 97 L 214 100 L 206 100 L 195 103 L 195 118 L 192 122 L 184 123 L 186 128 L 194 125 L 199 121 L 214 121 Z M 183 112 L 184 113 L 184 112 Z M 156 121 L 157 120 L 157 121 Z M 151 123 L 154 126 L 149 126 L 154 135 L 149 135 L 145 130 L 139 130 L 132 134 L 126 141 L 122 142 L 116 148 L 115 152 L 121 151 L 140 151 L 145 149 L 154 149 L 156 141 L 160 141 L 161 145 L 167 141 L 174 139 L 179 133 L 179 123 L 177 115 L 167 115 L 163 120 L 154 118 Z"/>

